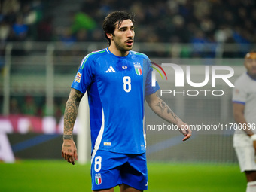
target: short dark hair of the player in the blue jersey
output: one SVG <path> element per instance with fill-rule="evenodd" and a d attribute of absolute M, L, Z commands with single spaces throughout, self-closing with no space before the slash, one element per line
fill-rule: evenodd
<path fill-rule="evenodd" d="M 132 22 L 134 23 L 134 15 L 128 14 L 125 11 L 114 11 L 111 14 L 108 14 L 107 17 L 105 17 L 102 28 L 104 31 L 105 38 L 108 40 L 109 45 L 111 41 L 106 35 L 106 33 L 114 34 L 116 24 L 120 26 L 120 23 L 122 23 L 123 20 L 132 20 Z"/>

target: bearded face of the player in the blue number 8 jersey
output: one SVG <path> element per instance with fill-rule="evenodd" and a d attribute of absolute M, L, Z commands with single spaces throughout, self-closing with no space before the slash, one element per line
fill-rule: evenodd
<path fill-rule="evenodd" d="M 134 26 L 132 20 L 123 20 L 120 26 L 116 25 L 112 35 L 111 44 L 121 53 L 125 53 L 133 48 Z"/>

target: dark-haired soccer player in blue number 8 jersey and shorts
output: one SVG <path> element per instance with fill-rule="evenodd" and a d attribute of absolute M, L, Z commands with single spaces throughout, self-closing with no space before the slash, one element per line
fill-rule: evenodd
<path fill-rule="evenodd" d="M 92 190 L 111 192 L 117 185 L 122 192 L 147 190 L 145 100 L 156 114 L 178 125 L 184 141 L 191 131 L 157 96 L 159 85 L 151 85 L 148 56 L 132 51 L 133 17 L 115 11 L 105 18 L 103 30 L 109 47 L 85 56 L 72 84 L 64 114 L 62 157 L 72 164 L 78 160 L 72 131 L 87 91 Z"/>

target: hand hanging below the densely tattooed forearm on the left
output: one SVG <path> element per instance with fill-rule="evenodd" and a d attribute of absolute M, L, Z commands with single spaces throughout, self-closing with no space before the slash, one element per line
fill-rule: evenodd
<path fill-rule="evenodd" d="M 62 144 L 62 157 L 69 163 L 72 163 L 72 165 L 75 165 L 75 160 L 78 160 L 78 150 L 73 139 L 64 139 Z"/>

